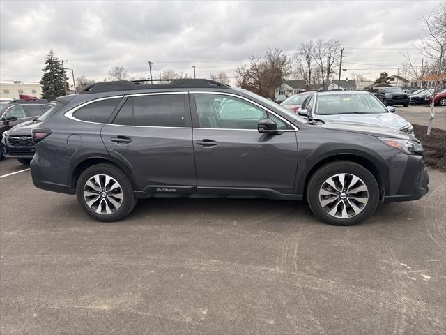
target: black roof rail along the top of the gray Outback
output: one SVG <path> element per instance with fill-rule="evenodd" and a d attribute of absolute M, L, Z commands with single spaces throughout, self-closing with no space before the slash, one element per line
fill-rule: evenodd
<path fill-rule="evenodd" d="M 141 82 L 167 82 L 163 84 L 141 84 Z M 116 82 L 98 82 L 96 84 L 89 85 L 83 89 L 79 94 L 91 94 L 100 92 L 112 92 L 112 91 L 128 91 L 132 89 L 182 89 L 182 88 L 219 88 L 227 89 L 228 85 L 216 82 L 215 80 L 208 79 L 141 79 L 141 80 L 120 80 Z"/>

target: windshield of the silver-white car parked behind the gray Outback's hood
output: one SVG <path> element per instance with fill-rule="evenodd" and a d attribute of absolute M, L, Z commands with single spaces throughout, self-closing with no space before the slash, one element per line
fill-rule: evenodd
<path fill-rule="evenodd" d="M 324 94 L 318 96 L 316 114 L 379 114 L 388 110 L 373 94 Z"/>

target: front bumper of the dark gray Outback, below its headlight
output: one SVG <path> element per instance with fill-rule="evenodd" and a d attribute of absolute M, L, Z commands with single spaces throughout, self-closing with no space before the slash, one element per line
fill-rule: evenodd
<path fill-rule="evenodd" d="M 412 201 L 429 192 L 429 174 L 420 155 L 397 154 L 390 163 L 390 189 L 383 202 Z"/>

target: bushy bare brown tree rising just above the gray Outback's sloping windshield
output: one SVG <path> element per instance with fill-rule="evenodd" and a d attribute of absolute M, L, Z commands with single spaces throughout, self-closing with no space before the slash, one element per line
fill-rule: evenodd
<path fill-rule="evenodd" d="M 252 56 L 236 68 L 237 84 L 261 96 L 274 98 L 275 89 L 291 74 L 291 61 L 279 49 L 268 48 L 264 57 Z"/>

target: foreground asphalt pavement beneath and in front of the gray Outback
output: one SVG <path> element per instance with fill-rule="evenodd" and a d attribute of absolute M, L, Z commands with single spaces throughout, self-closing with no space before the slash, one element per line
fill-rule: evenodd
<path fill-rule="evenodd" d="M 98 223 L 29 170 L 1 177 L 1 334 L 445 334 L 446 174 L 430 175 L 355 227 L 220 199 Z"/>

